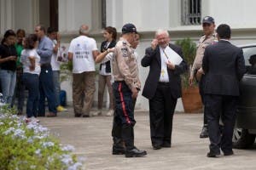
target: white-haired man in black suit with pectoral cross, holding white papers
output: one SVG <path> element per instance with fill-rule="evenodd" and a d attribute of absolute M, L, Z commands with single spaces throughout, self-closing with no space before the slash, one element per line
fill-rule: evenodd
<path fill-rule="evenodd" d="M 187 70 L 183 59 L 177 65 L 166 59 L 167 46 L 183 58 L 182 49 L 169 42 L 168 31 L 156 31 L 155 39 L 151 47 L 146 48 L 142 59 L 143 67 L 150 66 L 143 96 L 149 99 L 150 134 L 154 150 L 171 147 L 172 117 L 177 98 L 181 97 L 180 75 Z"/>

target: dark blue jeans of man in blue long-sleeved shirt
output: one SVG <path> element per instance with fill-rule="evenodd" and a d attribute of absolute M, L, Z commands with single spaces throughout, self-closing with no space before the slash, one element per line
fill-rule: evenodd
<path fill-rule="evenodd" d="M 45 97 L 48 102 L 49 112 L 57 114 L 55 92 L 53 85 L 53 75 L 51 66 L 41 66 L 41 73 L 39 76 L 39 105 L 38 105 L 38 116 L 45 116 Z"/>

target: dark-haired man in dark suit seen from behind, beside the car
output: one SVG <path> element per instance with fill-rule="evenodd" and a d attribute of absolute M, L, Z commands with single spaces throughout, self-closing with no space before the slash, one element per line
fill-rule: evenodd
<path fill-rule="evenodd" d="M 232 136 L 236 121 L 236 104 L 239 96 L 239 81 L 246 71 L 241 48 L 230 43 L 230 26 L 217 28 L 218 42 L 206 48 L 202 68 L 206 76 L 205 100 L 209 128 L 210 152 L 208 157 L 233 155 Z M 219 117 L 222 113 L 224 129 L 219 132 Z"/>

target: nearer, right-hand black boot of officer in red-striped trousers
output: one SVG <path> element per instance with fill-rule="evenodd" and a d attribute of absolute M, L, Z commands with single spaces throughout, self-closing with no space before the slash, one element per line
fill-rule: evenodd
<path fill-rule="evenodd" d="M 147 155 L 145 150 L 138 150 L 134 146 L 133 126 L 128 124 L 122 126 L 122 138 L 125 141 L 125 157 L 141 157 Z"/>

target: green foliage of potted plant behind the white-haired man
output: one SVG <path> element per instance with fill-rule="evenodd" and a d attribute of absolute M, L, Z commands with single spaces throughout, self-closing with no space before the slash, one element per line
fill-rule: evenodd
<path fill-rule="evenodd" d="M 189 66 L 188 72 L 182 75 L 182 85 L 183 88 L 189 88 L 189 74 L 190 68 L 193 65 L 196 53 L 196 43 L 193 42 L 189 37 L 182 40 L 177 40 L 176 45 L 180 46 L 183 50 L 183 59 L 186 61 Z M 193 86 L 196 86 L 196 82 L 193 83 Z"/>

